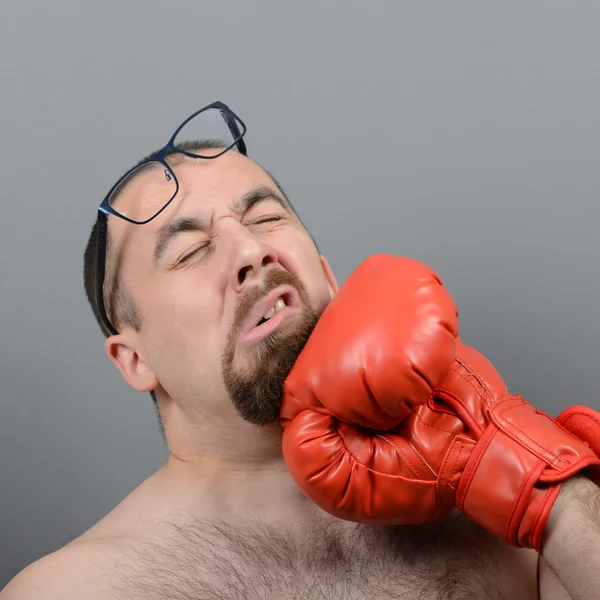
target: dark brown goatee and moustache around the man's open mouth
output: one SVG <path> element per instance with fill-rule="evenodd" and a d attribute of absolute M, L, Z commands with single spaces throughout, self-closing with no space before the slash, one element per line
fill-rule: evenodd
<path fill-rule="evenodd" d="M 256 301 L 273 288 L 289 284 L 300 295 L 301 314 L 256 344 L 250 360 L 252 366 L 242 371 L 234 366 L 235 344 L 248 311 Z M 261 287 L 247 290 L 236 308 L 234 326 L 231 328 L 223 358 L 221 373 L 233 405 L 242 418 L 255 425 L 273 423 L 279 417 L 283 384 L 292 370 L 302 348 L 318 321 L 317 313 L 310 307 L 308 294 L 302 282 L 287 271 L 273 271 Z"/>

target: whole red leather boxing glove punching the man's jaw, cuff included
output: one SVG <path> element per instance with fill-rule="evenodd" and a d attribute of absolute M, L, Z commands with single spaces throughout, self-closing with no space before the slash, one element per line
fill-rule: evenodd
<path fill-rule="evenodd" d="M 402 292 L 397 302 L 383 295 L 383 305 L 378 292 L 402 279 L 396 270 L 404 269 L 405 259 L 380 260 L 385 276 L 368 261 L 351 276 L 288 376 L 281 419 L 290 473 L 309 498 L 339 518 L 421 524 L 457 506 L 509 544 L 540 551 L 560 482 L 600 460 L 556 421 L 510 395 L 489 361 L 460 342 L 449 362 L 445 352 L 437 355 L 437 372 L 447 374 L 443 381 L 424 375 L 431 346 L 420 345 L 429 333 L 419 334 L 420 313 L 402 305 Z M 404 285 L 412 289 L 408 280 Z M 374 292 L 368 302 L 365 289 Z M 355 298 L 358 290 L 362 297 Z M 368 319 L 356 327 L 361 308 Z M 393 326 L 383 326 L 392 316 Z M 403 328 L 411 331 L 408 347 L 407 338 L 394 335 Z M 406 363 L 406 356 L 418 360 Z M 414 373 L 429 390 L 413 395 L 402 385 L 413 382 Z M 379 390 L 385 390 L 383 401 Z"/>

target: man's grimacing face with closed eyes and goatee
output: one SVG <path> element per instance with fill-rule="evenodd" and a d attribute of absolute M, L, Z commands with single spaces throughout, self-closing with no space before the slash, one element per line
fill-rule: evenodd
<path fill-rule="evenodd" d="M 111 218 L 122 278 L 143 323 L 129 335 L 184 410 L 226 416 L 234 406 L 249 422 L 272 422 L 335 280 L 254 162 L 228 152 L 174 171 L 178 195 L 154 220 Z M 159 202 L 161 185 L 142 175 L 119 208 Z"/>

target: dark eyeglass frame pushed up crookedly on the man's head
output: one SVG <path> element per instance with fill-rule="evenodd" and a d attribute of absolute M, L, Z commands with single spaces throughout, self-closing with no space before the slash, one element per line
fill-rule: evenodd
<path fill-rule="evenodd" d="M 177 148 L 174 143 L 175 139 L 177 138 L 177 135 L 179 134 L 179 132 L 185 127 L 185 125 L 187 125 L 187 123 L 189 123 L 194 117 L 197 117 L 200 113 L 202 113 L 206 110 L 215 109 L 215 108 L 219 109 L 219 111 L 221 112 L 221 116 L 223 117 L 223 119 L 225 120 L 225 123 L 229 127 L 229 131 L 231 132 L 231 135 L 233 136 L 233 142 L 229 146 L 227 146 L 227 148 L 222 150 L 221 152 L 219 152 L 217 154 L 212 154 L 210 156 L 203 156 L 200 154 L 195 154 L 193 152 L 188 152 L 188 151 L 180 150 L 179 148 Z M 238 123 L 242 126 L 241 131 L 240 131 L 240 128 L 238 127 Z M 240 154 L 247 156 L 247 148 L 246 148 L 246 144 L 243 139 L 244 135 L 246 134 L 246 131 L 247 131 L 247 129 L 246 129 L 246 125 L 244 124 L 244 122 L 226 104 L 223 104 L 222 102 L 218 102 L 218 101 L 213 102 L 212 104 L 209 104 L 209 105 L 205 106 L 204 108 L 201 108 L 200 110 L 196 111 L 193 115 L 189 116 L 185 121 L 183 121 L 183 123 L 181 123 L 181 125 L 179 125 L 179 127 L 177 127 L 177 129 L 175 130 L 175 133 L 171 136 L 171 139 L 167 142 L 167 144 L 165 146 L 163 146 L 163 148 L 161 148 L 158 152 L 155 152 L 152 156 L 149 156 L 143 162 L 141 162 L 141 163 L 137 164 L 136 166 L 132 167 L 131 169 L 129 169 L 124 175 L 122 175 L 118 179 L 118 181 L 115 183 L 115 185 L 112 186 L 112 188 L 110 189 L 108 194 L 106 194 L 104 200 L 98 207 L 98 219 L 96 222 L 96 282 L 95 282 L 96 289 L 95 289 L 95 295 L 96 295 L 96 306 L 98 307 L 98 312 L 100 314 L 102 324 L 104 325 L 104 327 L 106 327 L 107 331 L 109 331 L 112 335 L 117 335 L 118 331 L 113 327 L 113 325 L 110 322 L 110 319 L 108 318 L 108 315 L 106 313 L 106 307 L 104 306 L 104 291 L 103 291 L 104 278 L 106 276 L 106 240 L 107 240 L 107 234 L 108 234 L 108 216 L 114 215 L 115 217 L 124 219 L 125 221 L 128 221 L 129 223 L 133 223 L 135 225 L 144 225 L 145 223 L 152 221 L 152 219 L 155 219 L 163 210 L 165 210 L 167 208 L 167 206 L 169 206 L 169 204 L 171 204 L 171 202 L 173 201 L 173 198 L 175 198 L 175 196 L 177 195 L 177 192 L 179 191 L 179 182 L 177 181 L 177 177 L 175 176 L 175 173 L 173 172 L 171 167 L 166 162 L 166 156 L 168 154 L 179 153 L 179 154 L 185 154 L 186 156 L 189 156 L 191 158 L 214 159 L 214 158 L 218 158 L 219 156 L 222 156 L 223 154 L 225 154 L 225 152 L 228 152 L 234 146 L 237 146 Z M 149 219 L 146 219 L 145 221 L 135 221 L 133 219 L 126 217 L 125 215 L 122 215 L 117 210 L 115 210 L 110 205 L 110 198 L 111 198 L 113 192 L 134 171 L 137 171 L 138 169 L 143 167 L 143 165 L 145 165 L 147 163 L 151 163 L 151 162 L 158 162 L 158 163 L 162 164 L 164 167 L 166 167 L 168 172 L 173 176 L 173 180 L 175 182 L 175 192 L 173 193 L 171 198 L 168 200 L 168 202 L 166 202 L 165 205 L 155 215 L 153 215 Z"/>

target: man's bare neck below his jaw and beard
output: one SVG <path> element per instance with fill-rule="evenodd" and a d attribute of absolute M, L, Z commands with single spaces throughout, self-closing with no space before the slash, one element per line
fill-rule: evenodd
<path fill-rule="evenodd" d="M 161 479 L 174 503 L 229 522 L 314 517 L 316 506 L 300 492 L 283 460 L 279 423 L 259 427 L 237 414 L 198 414 L 192 421 L 179 410 L 163 421 L 170 456 Z"/>

